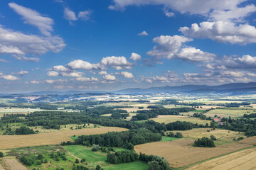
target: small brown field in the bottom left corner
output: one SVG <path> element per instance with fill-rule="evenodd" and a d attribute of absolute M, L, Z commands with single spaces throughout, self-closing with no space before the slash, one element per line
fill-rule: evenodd
<path fill-rule="evenodd" d="M 4 159 L 0 160 L 0 170 L 27 170 L 27 168 L 14 157 L 4 157 Z"/>

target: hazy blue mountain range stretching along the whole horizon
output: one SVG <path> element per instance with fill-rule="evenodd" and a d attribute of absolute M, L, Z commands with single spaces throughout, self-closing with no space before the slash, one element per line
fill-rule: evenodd
<path fill-rule="evenodd" d="M 233 83 L 219 86 L 208 85 L 183 85 L 183 86 L 158 86 L 146 89 L 130 88 L 119 91 L 39 91 L 31 93 L 1 94 L 0 98 L 13 98 L 18 102 L 52 102 L 70 100 L 90 100 L 95 96 L 114 94 L 183 94 L 197 96 L 211 95 L 247 95 L 256 94 L 256 82 Z"/>

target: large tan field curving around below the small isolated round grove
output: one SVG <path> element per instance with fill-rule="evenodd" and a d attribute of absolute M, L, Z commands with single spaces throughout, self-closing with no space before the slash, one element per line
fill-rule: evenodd
<path fill-rule="evenodd" d="M 194 140 L 182 138 L 170 142 L 152 142 L 134 147 L 137 153 L 154 154 L 164 157 L 173 168 L 188 166 L 206 159 L 218 157 L 223 154 L 235 152 L 242 148 L 252 147 L 252 145 L 242 143 L 232 143 L 218 145 L 213 148 L 192 147 Z"/>

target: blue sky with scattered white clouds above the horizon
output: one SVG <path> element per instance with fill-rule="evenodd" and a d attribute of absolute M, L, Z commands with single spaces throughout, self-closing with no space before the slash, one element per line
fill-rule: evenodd
<path fill-rule="evenodd" d="M 256 81 L 251 0 L 0 1 L 0 92 Z"/>

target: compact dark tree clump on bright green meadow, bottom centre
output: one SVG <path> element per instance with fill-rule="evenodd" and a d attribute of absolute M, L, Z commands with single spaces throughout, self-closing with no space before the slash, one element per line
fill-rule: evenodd
<path fill-rule="evenodd" d="M 107 154 L 107 162 L 110 164 L 124 164 L 135 162 L 139 159 L 139 155 L 135 151 L 125 150 Z"/>

